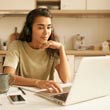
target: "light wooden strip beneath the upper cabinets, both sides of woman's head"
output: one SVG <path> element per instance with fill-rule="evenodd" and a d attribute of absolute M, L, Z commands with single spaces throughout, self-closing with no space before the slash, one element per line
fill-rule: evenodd
<path fill-rule="evenodd" d="M 26 15 L 30 10 L 0 10 L 0 15 Z M 110 10 L 50 10 L 53 16 L 107 16 L 110 17 Z"/>

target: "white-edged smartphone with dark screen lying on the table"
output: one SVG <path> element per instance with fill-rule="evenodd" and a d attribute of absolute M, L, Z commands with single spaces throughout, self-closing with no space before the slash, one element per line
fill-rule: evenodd
<path fill-rule="evenodd" d="M 22 104 L 26 102 L 26 100 L 21 94 L 8 95 L 7 97 L 12 104 Z"/>

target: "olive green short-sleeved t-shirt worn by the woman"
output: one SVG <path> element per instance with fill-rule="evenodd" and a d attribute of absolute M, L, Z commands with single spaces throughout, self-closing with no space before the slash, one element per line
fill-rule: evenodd
<path fill-rule="evenodd" d="M 27 42 L 16 40 L 10 44 L 3 66 L 19 70 L 17 73 L 23 77 L 47 80 L 52 79 L 57 60 L 49 57 L 46 50 L 33 49 Z"/>

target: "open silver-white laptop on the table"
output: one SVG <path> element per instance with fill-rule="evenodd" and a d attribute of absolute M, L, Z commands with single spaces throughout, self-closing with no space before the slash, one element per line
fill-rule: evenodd
<path fill-rule="evenodd" d="M 110 56 L 83 57 L 71 87 L 63 93 L 38 92 L 37 95 L 61 105 L 101 98 L 110 93 Z"/>

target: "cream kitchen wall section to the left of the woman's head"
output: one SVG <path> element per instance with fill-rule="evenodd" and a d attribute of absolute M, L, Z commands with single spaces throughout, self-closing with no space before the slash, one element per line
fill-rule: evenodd
<path fill-rule="evenodd" d="M 21 31 L 25 17 L 0 17 L 0 38 L 1 40 L 7 40 L 14 32 L 14 27 L 18 27 L 18 32 Z"/>

